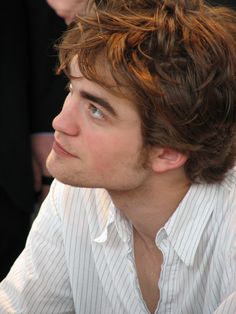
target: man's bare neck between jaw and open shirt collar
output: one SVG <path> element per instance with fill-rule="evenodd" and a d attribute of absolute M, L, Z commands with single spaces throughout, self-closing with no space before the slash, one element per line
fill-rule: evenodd
<path fill-rule="evenodd" d="M 126 191 L 109 191 L 117 208 L 129 219 L 135 231 L 148 244 L 174 213 L 190 187 L 186 176 L 161 174 L 142 186 Z"/>

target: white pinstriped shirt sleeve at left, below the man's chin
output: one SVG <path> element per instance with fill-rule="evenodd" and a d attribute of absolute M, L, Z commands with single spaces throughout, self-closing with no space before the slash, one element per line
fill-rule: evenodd
<path fill-rule="evenodd" d="M 54 182 L 24 251 L 0 284 L 0 313 L 74 313 L 55 190 Z"/>

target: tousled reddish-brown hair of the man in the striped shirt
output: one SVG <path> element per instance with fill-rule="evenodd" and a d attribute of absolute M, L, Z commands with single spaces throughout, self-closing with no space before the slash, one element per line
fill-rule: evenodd
<path fill-rule="evenodd" d="M 105 88 L 103 55 L 141 117 L 146 148 L 188 156 L 191 182 L 218 182 L 236 159 L 236 14 L 193 0 L 106 0 L 78 17 L 60 47 L 60 70 Z"/>

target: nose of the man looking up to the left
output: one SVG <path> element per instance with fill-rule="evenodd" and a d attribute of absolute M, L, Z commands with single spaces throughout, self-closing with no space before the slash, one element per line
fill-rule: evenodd
<path fill-rule="evenodd" d="M 79 125 L 76 117 L 76 107 L 70 104 L 70 94 L 66 97 L 61 112 L 54 118 L 52 126 L 55 131 L 76 136 L 79 133 Z"/>

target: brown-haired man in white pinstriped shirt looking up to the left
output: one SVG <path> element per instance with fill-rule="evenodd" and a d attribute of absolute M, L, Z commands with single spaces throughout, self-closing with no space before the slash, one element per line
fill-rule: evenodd
<path fill-rule="evenodd" d="M 236 312 L 236 16 L 109 1 L 60 46 L 56 177 L 1 313 Z"/>

